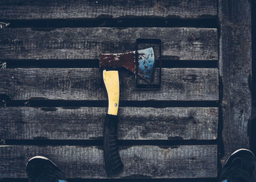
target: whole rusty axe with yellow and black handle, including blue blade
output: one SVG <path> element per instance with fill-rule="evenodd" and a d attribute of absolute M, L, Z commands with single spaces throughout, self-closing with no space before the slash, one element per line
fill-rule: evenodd
<path fill-rule="evenodd" d="M 136 54 L 138 54 L 138 66 L 136 66 Z M 109 176 L 120 172 L 124 165 L 118 153 L 117 144 L 117 126 L 118 126 L 118 105 L 119 105 L 119 77 L 118 71 L 113 68 L 124 67 L 132 73 L 147 80 L 152 81 L 154 75 L 154 50 L 152 47 L 148 49 L 138 50 L 138 52 L 127 52 L 121 54 L 102 54 L 100 56 L 100 67 L 111 68 L 111 70 L 103 70 L 103 80 L 108 93 L 108 114 L 104 122 L 103 133 L 103 151 L 106 171 Z"/>

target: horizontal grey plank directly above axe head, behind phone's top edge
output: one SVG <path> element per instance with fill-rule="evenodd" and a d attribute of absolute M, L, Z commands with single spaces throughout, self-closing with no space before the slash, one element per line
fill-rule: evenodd
<path fill-rule="evenodd" d="M 0 59 L 99 59 L 133 51 L 137 38 L 161 39 L 163 59 L 218 59 L 217 29 L 190 27 L 0 29 Z"/>

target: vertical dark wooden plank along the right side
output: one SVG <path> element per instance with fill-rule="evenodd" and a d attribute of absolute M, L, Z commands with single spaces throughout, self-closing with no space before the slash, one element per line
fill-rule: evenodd
<path fill-rule="evenodd" d="M 252 32 L 250 1 L 219 1 L 220 76 L 223 143 L 221 160 L 239 148 L 249 148 L 248 123 L 252 112 Z"/>

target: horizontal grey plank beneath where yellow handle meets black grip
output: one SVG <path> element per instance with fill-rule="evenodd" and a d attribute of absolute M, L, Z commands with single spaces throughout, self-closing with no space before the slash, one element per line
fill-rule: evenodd
<path fill-rule="evenodd" d="M 100 139 L 102 107 L 2 107 L 1 139 Z M 121 107 L 118 139 L 211 140 L 217 138 L 218 108 Z"/>

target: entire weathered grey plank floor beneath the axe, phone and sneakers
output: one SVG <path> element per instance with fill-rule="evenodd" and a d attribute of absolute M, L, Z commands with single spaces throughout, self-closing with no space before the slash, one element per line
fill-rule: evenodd
<path fill-rule="evenodd" d="M 26 181 L 35 155 L 70 181 L 109 179 L 99 55 L 133 51 L 137 38 L 161 39 L 162 84 L 137 89 L 120 72 L 124 170 L 113 178 L 217 181 L 227 156 L 249 147 L 252 104 L 250 4 L 228 3 L 1 1 L 0 181 Z"/>

